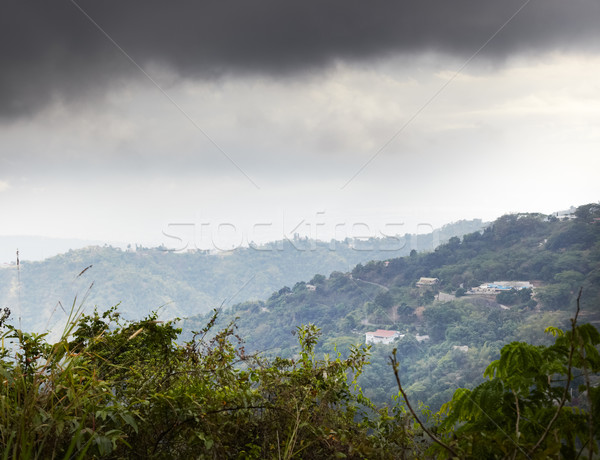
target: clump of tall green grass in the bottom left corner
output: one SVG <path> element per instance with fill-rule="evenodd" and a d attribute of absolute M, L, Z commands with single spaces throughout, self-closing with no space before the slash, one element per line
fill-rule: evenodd
<path fill-rule="evenodd" d="M 69 339 L 82 317 L 85 298 L 73 301 L 60 339 L 29 334 L 0 321 L 0 446 L 2 458 L 84 458 L 123 442 L 123 432 L 103 430 L 106 411 L 122 410 L 110 386 L 90 367 L 85 350 Z M 99 413 L 103 414 L 99 417 Z"/>

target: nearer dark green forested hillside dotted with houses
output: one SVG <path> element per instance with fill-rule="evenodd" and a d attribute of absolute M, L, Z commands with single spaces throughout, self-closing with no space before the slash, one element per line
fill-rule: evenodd
<path fill-rule="evenodd" d="M 546 326 L 568 326 L 579 287 L 582 321 L 598 322 L 600 207 L 586 205 L 572 219 L 507 215 L 483 232 L 452 238 L 435 251 L 359 264 L 351 272 L 318 274 L 285 286 L 268 300 L 224 309 L 223 324 L 238 318 L 248 350 L 293 357 L 294 328 L 314 323 L 323 331 L 319 351 L 363 343 L 365 332 L 397 330 L 393 345 L 375 345 L 372 365 L 359 380 L 378 404 L 396 394 L 386 359 L 398 348 L 410 395 L 433 409 L 460 386 L 481 382 L 483 369 L 514 340 L 548 343 Z M 437 278 L 419 287 L 421 277 Z M 531 281 L 532 289 L 468 293 L 498 280 Z M 206 317 L 190 319 L 195 329 Z M 427 339 L 423 336 L 428 336 Z"/>

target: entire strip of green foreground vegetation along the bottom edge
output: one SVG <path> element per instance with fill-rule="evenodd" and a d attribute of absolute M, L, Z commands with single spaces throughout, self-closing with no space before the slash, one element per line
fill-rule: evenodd
<path fill-rule="evenodd" d="M 550 346 L 513 342 L 473 390 L 422 420 L 403 402 L 376 410 L 356 378 L 369 350 L 315 352 L 297 328 L 293 358 L 248 355 L 235 326 L 194 338 L 155 315 L 74 315 L 48 344 L 0 319 L 0 447 L 4 458 L 589 458 L 599 452 L 600 333 L 549 328 Z M 579 385 L 576 385 L 577 383 Z M 408 410 L 407 410 L 408 409 Z"/>

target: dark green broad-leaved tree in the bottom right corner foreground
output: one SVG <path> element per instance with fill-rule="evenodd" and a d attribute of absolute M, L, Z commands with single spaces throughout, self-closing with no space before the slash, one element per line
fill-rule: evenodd
<path fill-rule="evenodd" d="M 488 381 L 456 390 L 441 410 L 443 449 L 460 458 L 576 458 L 587 450 L 591 459 L 598 452 L 600 389 L 591 374 L 600 372 L 600 333 L 577 325 L 579 298 L 571 330 L 547 328 L 554 345 L 512 342 L 487 367 Z M 579 408 L 570 404 L 576 369 L 587 398 Z"/>

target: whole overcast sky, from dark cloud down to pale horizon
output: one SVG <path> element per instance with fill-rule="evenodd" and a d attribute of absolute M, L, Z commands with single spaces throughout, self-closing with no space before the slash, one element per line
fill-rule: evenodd
<path fill-rule="evenodd" d="M 599 23 L 597 0 L 6 2 L 0 234 L 226 249 L 598 201 Z"/>

